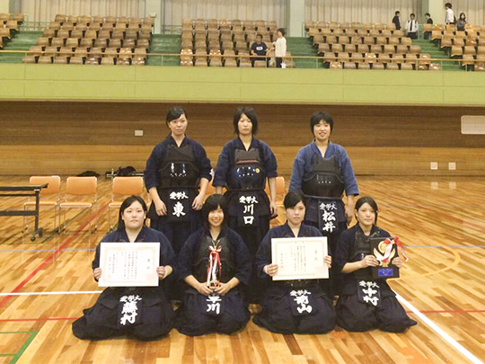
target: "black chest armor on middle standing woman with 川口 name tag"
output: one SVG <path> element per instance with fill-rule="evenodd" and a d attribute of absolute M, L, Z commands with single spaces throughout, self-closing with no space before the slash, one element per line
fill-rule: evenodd
<path fill-rule="evenodd" d="M 264 190 L 266 171 L 260 161 L 260 150 L 236 149 L 234 151 L 234 167 L 227 179 L 227 187 L 231 191 Z"/>

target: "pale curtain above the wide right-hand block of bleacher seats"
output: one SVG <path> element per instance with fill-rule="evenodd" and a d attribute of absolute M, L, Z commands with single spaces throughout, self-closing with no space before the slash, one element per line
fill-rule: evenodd
<path fill-rule="evenodd" d="M 420 19 L 420 0 L 305 0 L 305 20 L 313 22 L 392 22 L 401 12 L 401 25 L 410 13 Z"/>

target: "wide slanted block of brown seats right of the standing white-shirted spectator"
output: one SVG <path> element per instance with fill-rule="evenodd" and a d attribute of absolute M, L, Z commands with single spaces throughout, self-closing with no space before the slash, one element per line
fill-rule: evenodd
<path fill-rule="evenodd" d="M 392 23 L 305 22 L 305 29 L 332 69 L 439 69 Z"/>

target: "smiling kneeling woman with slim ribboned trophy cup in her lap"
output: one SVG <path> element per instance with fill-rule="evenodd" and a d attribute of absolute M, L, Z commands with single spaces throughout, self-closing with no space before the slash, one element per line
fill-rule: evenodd
<path fill-rule="evenodd" d="M 204 227 L 190 235 L 179 254 L 179 279 L 187 288 L 177 311 L 181 333 L 234 333 L 249 321 L 241 286 L 251 279 L 251 255 L 242 237 L 226 226 L 227 204 L 221 194 L 202 208 Z"/>

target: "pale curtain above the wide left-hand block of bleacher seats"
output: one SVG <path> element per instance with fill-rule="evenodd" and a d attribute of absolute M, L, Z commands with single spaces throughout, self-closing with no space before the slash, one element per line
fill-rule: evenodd
<path fill-rule="evenodd" d="M 17 0 L 31 22 L 53 22 L 65 15 L 145 17 L 145 0 Z"/>

